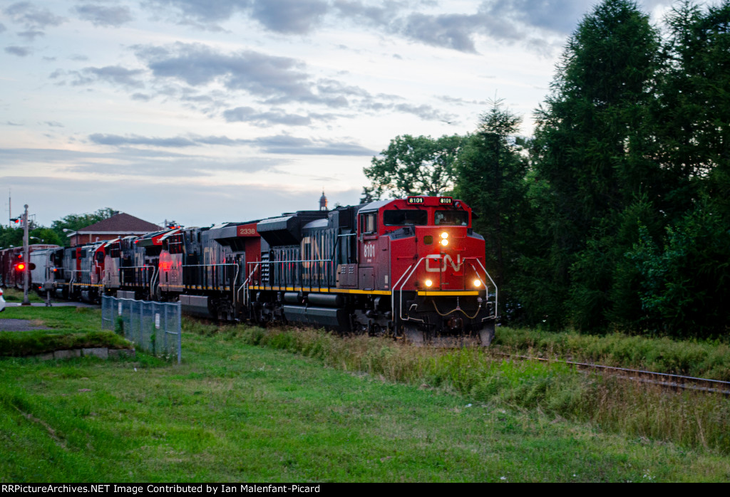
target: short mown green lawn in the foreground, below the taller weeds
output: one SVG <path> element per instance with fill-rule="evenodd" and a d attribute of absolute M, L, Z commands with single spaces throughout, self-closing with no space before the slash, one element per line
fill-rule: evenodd
<path fill-rule="evenodd" d="M 18 317 L 12 311 L 3 317 Z M 49 310 L 34 311 L 45 320 Z M 100 323 L 98 311 L 54 316 L 66 322 L 61 327 L 76 326 L 79 316 L 89 328 Z M 465 394 L 464 378 L 388 380 L 377 365 L 397 351 L 377 340 L 192 321 L 184 331 L 180 365 L 142 353 L 115 361 L 0 359 L 0 480 L 730 480 L 730 458 L 702 444 L 611 433 L 540 404 Z M 307 336 L 313 341 L 301 354 L 314 357 L 292 353 Z M 355 368 L 341 351 L 325 361 L 318 351 L 326 346 L 361 347 L 366 362 Z M 511 371 L 516 383 L 542 375 L 504 368 L 496 373 Z M 571 373 L 556 373 L 564 374 Z"/>

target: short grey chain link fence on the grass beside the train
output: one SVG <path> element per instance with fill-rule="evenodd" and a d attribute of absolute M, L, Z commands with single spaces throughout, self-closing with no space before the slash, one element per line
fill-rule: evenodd
<path fill-rule="evenodd" d="M 101 329 L 123 334 L 138 348 L 155 356 L 174 357 L 183 353 L 180 302 L 145 302 L 101 298 Z"/>

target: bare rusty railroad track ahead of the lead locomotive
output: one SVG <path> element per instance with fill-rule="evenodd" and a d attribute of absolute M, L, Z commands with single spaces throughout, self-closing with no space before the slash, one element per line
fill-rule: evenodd
<path fill-rule="evenodd" d="M 621 379 L 632 380 L 641 383 L 650 383 L 653 385 L 664 386 L 666 388 L 674 388 L 675 390 L 695 390 L 703 391 L 708 394 L 723 394 L 725 396 L 730 396 L 730 381 L 712 380 L 710 378 L 698 378 L 694 376 L 672 375 L 669 373 L 661 373 L 656 371 L 644 371 L 642 369 L 603 366 L 602 364 L 565 361 L 562 359 L 546 359 L 545 357 L 521 356 L 520 354 L 499 351 L 486 352 L 498 356 L 513 357 L 515 359 L 543 361 L 553 364 L 568 364 L 569 366 L 584 371 L 601 371 L 610 375 L 614 375 L 615 377 Z"/>

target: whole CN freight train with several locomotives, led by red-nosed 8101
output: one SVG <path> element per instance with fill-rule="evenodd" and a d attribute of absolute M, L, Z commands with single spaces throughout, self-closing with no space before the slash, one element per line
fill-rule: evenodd
<path fill-rule="evenodd" d="M 497 319 L 485 240 L 469 206 L 452 197 L 45 246 L 33 259 L 34 289 L 56 297 L 180 301 L 184 313 L 220 320 L 488 345 Z"/>

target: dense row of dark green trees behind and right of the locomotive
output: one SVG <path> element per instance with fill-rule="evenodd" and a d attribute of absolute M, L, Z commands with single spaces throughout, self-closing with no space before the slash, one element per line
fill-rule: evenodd
<path fill-rule="evenodd" d="M 719 337 L 730 323 L 730 0 L 661 28 L 604 0 L 520 117 L 491 102 L 467 136 L 399 136 L 363 200 L 443 195 L 477 213 L 519 324 Z"/>

